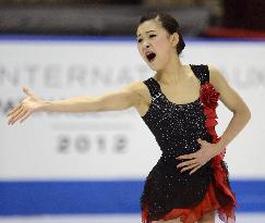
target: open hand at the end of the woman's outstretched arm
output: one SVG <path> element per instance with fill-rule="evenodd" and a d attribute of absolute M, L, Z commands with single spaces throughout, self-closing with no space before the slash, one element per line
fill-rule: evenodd
<path fill-rule="evenodd" d="M 21 120 L 20 122 L 22 123 L 32 113 L 40 111 L 41 108 L 45 107 L 45 101 L 37 98 L 28 88 L 23 87 L 23 91 L 27 95 L 27 97 L 17 107 L 7 113 L 7 116 L 9 117 L 9 125 L 13 125 L 19 120 Z"/>

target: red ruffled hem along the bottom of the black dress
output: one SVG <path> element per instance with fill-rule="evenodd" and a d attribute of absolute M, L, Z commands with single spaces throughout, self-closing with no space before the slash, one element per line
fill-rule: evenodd
<path fill-rule="evenodd" d="M 203 218 L 204 214 L 217 210 L 219 219 L 226 223 L 234 223 L 236 215 L 233 206 L 221 207 L 217 200 L 213 183 L 202 200 L 197 206 L 190 209 L 173 209 L 164 215 L 164 221 L 180 219 L 183 223 L 195 223 Z M 150 223 L 152 219 L 147 218 L 146 210 L 142 211 L 142 223 Z M 156 220 L 157 221 L 157 220 Z"/>

